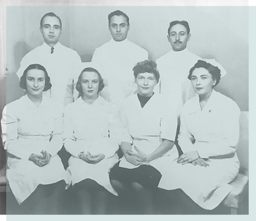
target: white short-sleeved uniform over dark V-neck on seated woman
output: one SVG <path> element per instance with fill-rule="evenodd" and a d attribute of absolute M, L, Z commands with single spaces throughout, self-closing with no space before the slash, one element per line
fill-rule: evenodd
<path fill-rule="evenodd" d="M 162 143 L 162 139 L 174 141 L 177 130 L 176 115 L 165 105 L 166 101 L 160 94 L 154 94 L 142 108 L 137 95 L 133 95 L 125 100 L 121 109 L 121 123 L 123 124 L 122 141 L 132 144 L 132 151 L 136 152 L 134 146 L 138 147 L 145 154 L 150 154 Z M 168 174 L 168 169 L 178 158 L 176 146 L 148 165 L 155 167 L 162 178 L 158 187 L 163 186 L 163 177 Z M 123 157 L 119 167 L 136 168 Z M 168 178 L 165 182 L 171 182 Z"/>

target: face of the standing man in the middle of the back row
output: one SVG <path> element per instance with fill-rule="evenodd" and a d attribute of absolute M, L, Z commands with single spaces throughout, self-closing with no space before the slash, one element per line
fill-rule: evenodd
<path fill-rule="evenodd" d="M 130 26 L 124 16 L 114 15 L 110 19 L 109 30 L 115 41 L 122 41 L 127 37 Z"/>

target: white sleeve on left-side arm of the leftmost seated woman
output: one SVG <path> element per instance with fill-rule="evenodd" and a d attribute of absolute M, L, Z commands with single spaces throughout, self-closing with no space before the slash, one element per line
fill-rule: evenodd
<path fill-rule="evenodd" d="M 18 141 L 18 117 L 12 106 L 5 106 L 1 126 L 4 148 L 20 159 L 29 160 L 30 155 L 33 154 L 33 148 L 26 147 L 26 151 L 24 151 L 25 147 Z"/>

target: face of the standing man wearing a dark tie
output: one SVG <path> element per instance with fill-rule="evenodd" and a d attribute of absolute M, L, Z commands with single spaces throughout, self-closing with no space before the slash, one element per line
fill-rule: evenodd
<path fill-rule="evenodd" d="M 45 42 L 49 44 L 56 44 L 61 34 L 60 21 L 56 17 L 46 16 L 42 21 L 42 27 L 40 27 L 42 37 Z"/>

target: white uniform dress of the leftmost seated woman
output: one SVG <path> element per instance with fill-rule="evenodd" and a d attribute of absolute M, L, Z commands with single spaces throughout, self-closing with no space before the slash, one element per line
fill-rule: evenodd
<path fill-rule="evenodd" d="M 39 184 L 47 185 L 64 180 L 67 172 L 57 152 L 62 147 L 63 108 L 43 96 L 37 107 L 27 95 L 7 104 L 3 111 L 2 130 L 5 149 L 15 157 L 7 159 L 7 180 L 20 204 Z M 29 161 L 32 153 L 46 150 L 50 163 L 39 167 Z M 19 159 L 17 159 L 19 158 Z"/>

